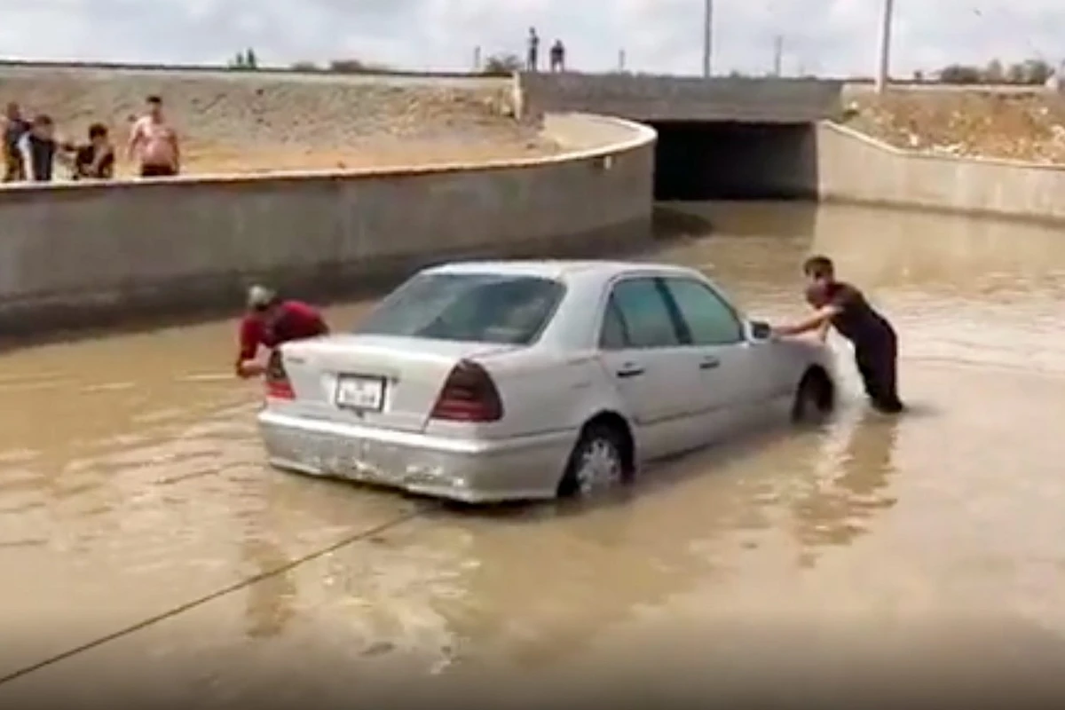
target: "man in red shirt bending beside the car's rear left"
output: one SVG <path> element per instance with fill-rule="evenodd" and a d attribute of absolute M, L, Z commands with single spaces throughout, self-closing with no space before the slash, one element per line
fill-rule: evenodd
<path fill-rule="evenodd" d="M 248 290 L 248 312 L 241 320 L 236 374 L 243 378 L 262 375 L 266 365 L 256 360 L 259 348 L 273 350 L 282 343 L 317 337 L 329 332 L 322 314 L 301 301 L 282 300 L 263 286 Z"/>

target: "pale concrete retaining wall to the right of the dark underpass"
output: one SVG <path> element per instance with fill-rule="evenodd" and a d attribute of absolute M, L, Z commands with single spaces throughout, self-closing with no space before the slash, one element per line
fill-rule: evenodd
<path fill-rule="evenodd" d="M 846 127 L 817 128 L 822 200 L 1065 220 L 1065 167 L 924 155 Z"/>

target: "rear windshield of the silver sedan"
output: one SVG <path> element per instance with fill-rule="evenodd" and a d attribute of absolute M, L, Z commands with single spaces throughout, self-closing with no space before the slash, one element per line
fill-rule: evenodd
<path fill-rule="evenodd" d="M 558 281 L 497 274 L 420 274 L 356 328 L 367 335 L 528 345 L 564 293 Z"/>

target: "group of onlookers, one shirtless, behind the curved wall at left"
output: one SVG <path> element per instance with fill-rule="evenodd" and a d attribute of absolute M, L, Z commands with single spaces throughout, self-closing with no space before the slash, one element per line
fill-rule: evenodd
<path fill-rule="evenodd" d="M 71 180 L 111 180 L 118 161 L 111 132 L 101 122 L 88 127 L 82 142 L 64 139 L 46 113 L 26 118 L 16 101 L 7 103 L 3 130 L 3 182 L 51 182 L 56 165 L 65 166 Z M 163 99 L 149 96 L 145 112 L 134 120 L 126 145 L 126 160 L 134 162 L 144 178 L 177 176 L 181 150 L 177 131 L 163 114 Z"/>

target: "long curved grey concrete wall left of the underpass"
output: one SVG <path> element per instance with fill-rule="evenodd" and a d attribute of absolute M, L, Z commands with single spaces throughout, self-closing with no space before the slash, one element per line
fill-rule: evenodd
<path fill-rule="evenodd" d="M 599 147 L 547 159 L 0 189 L 0 332 L 235 304 L 251 279 L 340 295 L 460 255 L 641 244 L 654 131 L 587 121 Z"/>

